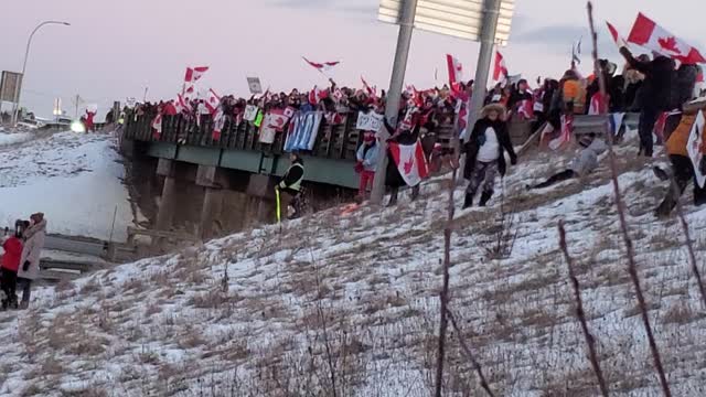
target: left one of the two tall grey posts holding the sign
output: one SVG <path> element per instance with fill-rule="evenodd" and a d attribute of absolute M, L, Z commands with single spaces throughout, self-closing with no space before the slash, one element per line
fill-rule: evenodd
<path fill-rule="evenodd" d="M 407 71 L 407 58 L 409 57 L 409 45 L 411 43 L 411 32 L 414 31 L 415 14 L 417 12 L 417 0 L 403 0 L 399 14 L 399 35 L 397 36 L 397 51 L 395 52 L 395 64 L 393 65 L 393 76 L 387 92 L 387 103 L 385 106 L 385 118 L 391 126 L 397 126 L 397 115 L 399 112 L 399 99 L 402 98 L 402 87 L 405 83 L 405 72 Z M 378 133 L 379 161 L 375 170 L 375 183 L 371 202 L 379 204 L 385 196 L 385 173 L 387 170 L 387 139 L 389 133 L 383 128 Z"/>

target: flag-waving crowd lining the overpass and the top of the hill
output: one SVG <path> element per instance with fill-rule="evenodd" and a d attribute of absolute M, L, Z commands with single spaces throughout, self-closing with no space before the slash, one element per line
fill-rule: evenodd
<path fill-rule="evenodd" d="M 434 140 L 426 141 L 425 137 L 434 132 L 440 125 L 453 125 L 459 139 L 462 140 L 461 152 L 466 153 L 468 161 L 463 174 L 469 181 L 464 207 L 471 206 L 474 195 L 480 191 L 479 205 L 485 205 L 493 195 L 494 180 L 503 176 L 506 170 L 505 154 L 510 157 L 511 164 L 517 162 L 517 157 L 509 136 L 509 124 L 515 120 L 532 122 L 532 130 L 538 130 L 543 126 L 550 126 L 555 135 L 563 129 L 563 119 L 577 115 L 598 115 L 608 112 L 640 112 L 640 147 L 639 154 L 652 157 L 654 153 L 653 133 L 659 143 L 667 143 L 670 159 L 673 160 L 673 174 L 680 181 L 694 176 L 685 167 L 684 144 L 667 142 L 664 136 L 664 117 L 666 112 L 683 114 L 683 105 L 698 96 L 695 93 L 696 83 L 702 76 L 698 65 L 681 64 L 659 53 L 652 56 L 642 54 L 633 56 L 627 49 L 621 49 L 624 57 L 622 72 L 619 66 L 608 60 L 599 61 L 599 71 L 606 84 L 606 96 L 600 94 L 599 78 L 596 75 L 582 76 L 573 64 L 560 79 L 536 79 L 537 86 L 533 89 L 526 79 L 516 82 L 502 82 L 486 89 L 482 117 L 474 126 L 467 129 L 466 119 L 470 108 L 470 98 L 475 85 L 468 83 L 453 83 L 432 89 L 418 90 L 414 86 L 406 87 L 398 106 L 397 120 L 385 120 L 384 127 L 391 138 L 391 142 L 399 144 L 414 144 L 421 141 L 427 160 L 435 168 L 439 167 L 439 159 L 448 160 L 450 153 L 441 152 L 442 149 Z M 354 89 L 340 87 L 333 79 L 330 86 L 323 89 L 300 92 L 292 89 L 287 93 L 265 93 L 250 98 L 237 98 L 233 95 L 218 99 L 215 107 L 208 106 L 206 99 L 188 98 L 159 104 L 142 104 L 135 109 L 136 117 L 145 114 L 158 114 L 164 116 L 183 115 L 184 117 L 225 117 L 239 124 L 248 106 L 256 106 L 259 111 L 322 111 L 329 124 L 342 124 L 350 112 L 374 111 L 385 114 L 388 106 L 386 93 L 371 87 L 363 81 L 363 87 Z M 685 114 L 684 114 L 685 115 Z M 688 118 L 684 117 L 685 122 Z M 391 122 L 393 124 L 391 124 Z M 396 125 L 394 125 L 394 122 Z M 656 128 L 655 128 L 656 125 Z M 687 130 L 685 126 L 683 130 Z M 286 131 L 286 129 L 284 129 Z M 681 131 L 681 130 L 680 130 Z M 362 139 L 356 152 L 355 171 L 360 174 L 359 198 L 365 200 L 375 179 L 377 163 L 389 153 L 379 152 L 379 131 L 361 131 Z M 678 136 L 678 135 L 677 135 Z M 565 170 L 550 176 L 543 183 L 528 186 L 530 189 L 547 187 L 552 184 L 586 175 L 598 168 L 598 157 L 606 150 L 606 139 L 602 135 L 589 135 L 577 140 L 581 147 L 578 157 Z M 683 138 L 683 137 L 682 137 Z M 680 150 L 674 147 L 680 146 Z M 448 150 L 448 149 L 447 149 Z M 675 158 L 674 155 L 682 155 Z M 296 154 L 297 169 L 289 174 L 289 180 L 284 180 L 282 190 L 296 197 L 301 193 L 298 187 L 303 180 L 303 161 Z M 392 159 L 391 159 L 392 160 Z M 450 165 L 458 162 L 449 161 Z M 706 164 L 705 164 L 706 165 Z M 706 167 L 705 167 L 706 170 Z M 406 185 L 393 161 L 385 175 L 386 186 L 391 193 L 389 205 L 395 205 L 398 191 Z M 680 183 L 684 184 L 683 182 Z M 295 186 L 297 189 L 290 189 Z M 419 193 L 419 186 L 411 187 L 411 198 Z M 295 200 L 298 203 L 298 200 Z M 668 204 L 668 203 L 667 203 Z M 666 205 L 668 207 L 670 205 Z M 670 208 L 671 211 L 671 208 Z M 662 213 L 665 211 L 663 210 Z M 300 205 L 295 214 L 301 213 Z"/>

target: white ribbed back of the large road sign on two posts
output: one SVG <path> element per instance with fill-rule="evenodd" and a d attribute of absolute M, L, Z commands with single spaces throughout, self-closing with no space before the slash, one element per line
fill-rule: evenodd
<path fill-rule="evenodd" d="M 399 24 L 403 0 L 381 0 L 377 19 Z M 502 0 L 495 44 L 510 40 L 515 0 Z M 480 41 L 483 30 L 483 0 L 417 0 L 414 26 L 459 39 Z"/>

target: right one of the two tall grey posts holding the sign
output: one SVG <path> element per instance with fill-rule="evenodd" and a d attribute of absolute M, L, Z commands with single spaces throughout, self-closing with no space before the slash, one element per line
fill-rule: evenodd
<path fill-rule="evenodd" d="M 471 108 L 468 112 L 468 133 L 464 142 L 471 137 L 470 131 L 478 121 L 483 101 L 485 100 L 485 88 L 490 75 L 490 65 L 493 61 L 493 44 L 495 44 L 495 32 L 498 30 L 498 17 L 500 15 L 501 0 L 485 0 L 483 3 L 483 31 L 481 32 L 481 51 L 478 54 L 478 66 L 475 67 L 475 83 L 473 95 L 471 96 Z"/>

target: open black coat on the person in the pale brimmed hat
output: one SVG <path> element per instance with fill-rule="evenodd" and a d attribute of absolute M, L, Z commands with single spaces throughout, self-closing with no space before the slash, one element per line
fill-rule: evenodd
<path fill-rule="evenodd" d="M 498 142 L 500 143 L 500 157 L 498 158 L 498 169 L 500 171 L 500 175 L 505 176 L 505 172 L 507 170 L 507 164 L 505 163 L 505 151 L 510 154 L 510 159 L 513 165 L 517 162 L 517 155 L 515 154 L 515 150 L 512 147 L 512 141 L 510 140 L 507 122 L 500 119 L 491 121 L 489 118 L 482 118 L 475 122 L 473 131 L 471 132 L 471 138 L 463 147 L 463 151 L 466 152 L 466 168 L 463 169 L 463 178 L 466 178 L 467 180 L 470 180 L 471 175 L 473 174 L 473 170 L 475 169 L 475 158 L 478 157 L 478 151 L 485 141 L 485 130 L 489 127 L 492 127 L 495 130 Z"/>

